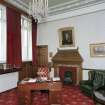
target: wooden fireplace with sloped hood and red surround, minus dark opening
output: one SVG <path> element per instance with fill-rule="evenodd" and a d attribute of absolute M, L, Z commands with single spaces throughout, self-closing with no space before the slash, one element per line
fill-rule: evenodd
<path fill-rule="evenodd" d="M 73 83 L 77 84 L 82 80 L 82 57 L 78 49 L 58 50 L 52 58 L 55 68 L 55 76 L 60 76 L 63 80 L 65 70 L 70 70 L 73 73 Z"/>

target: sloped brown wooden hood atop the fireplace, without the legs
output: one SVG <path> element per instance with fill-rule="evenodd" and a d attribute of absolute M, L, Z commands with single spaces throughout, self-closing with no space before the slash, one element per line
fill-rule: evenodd
<path fill-rule="evenodd" d="M 70 64 L 81 65 L 83 59 L 77 49 L 73 50 L 58 50 L 52 58 L 54 64 Z"/>

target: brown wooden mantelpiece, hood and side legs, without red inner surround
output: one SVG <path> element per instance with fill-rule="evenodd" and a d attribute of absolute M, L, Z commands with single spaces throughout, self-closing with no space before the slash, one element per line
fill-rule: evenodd
<path fill-rule="evenodd" d="M 78 49 L 71 50 L 58 50 L 55 56 L 52 58 L 53 66 L 55 68 L 55 75 L 59 75 L 60 66 L 71 66 L 77 68 L 77 81 L 76 84 L 79 84 L 79 81 L 82 80 L 82 62 L 83 59 L 79 54 Z"/>

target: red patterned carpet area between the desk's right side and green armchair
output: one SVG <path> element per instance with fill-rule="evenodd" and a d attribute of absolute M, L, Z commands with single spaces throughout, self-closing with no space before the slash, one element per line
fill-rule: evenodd
<path fill-rule="evenodd" d="M 78 87 L 64 87 L 62 99 L 63 105 L 95 105 L 93 100 L 81 93 Z"/>

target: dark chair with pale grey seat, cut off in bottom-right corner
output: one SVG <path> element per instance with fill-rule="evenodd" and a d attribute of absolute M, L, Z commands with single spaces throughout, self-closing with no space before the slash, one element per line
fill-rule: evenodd
<path fill-rule="evenodd" d="M 105 105 L 105 85 L 94 90 L 94 100 L 96 103 Z"/>

